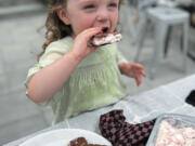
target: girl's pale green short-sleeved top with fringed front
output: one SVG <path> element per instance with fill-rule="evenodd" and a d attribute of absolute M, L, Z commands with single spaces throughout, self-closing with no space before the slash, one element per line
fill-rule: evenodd
<path fill-rule="evenodd" d="M 72 37 L 52 42 L 39 62 L 29 69 L 26 87 L 37 71 L 66 54 L 73 42 Z M 50 105 L 54 112 L 53 123 L 57 123 L 80 112 L 116 103 L 127 95 L 118 69 L 121 62 L 127 61 L 116 43 L 101 47 L 77 66 L 53 97 L 39 105 Z"/>

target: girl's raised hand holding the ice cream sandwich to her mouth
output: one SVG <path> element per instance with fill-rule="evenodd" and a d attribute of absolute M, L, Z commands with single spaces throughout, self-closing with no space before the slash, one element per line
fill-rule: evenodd
<path fill-rule="evenodd" d="M 70 52 L 74 53 L 78 59 L 80 61 L 83 59 L 88 54 L 94 52 L 98 49 L 98 47 L 90 47 L 89 40 L 91 39 L 92 36 L 101 31 L 102 31 L 101 27 L 94 27 L 94 28 L 86 29 L 82 32 L 80 32 L 75 38 Z"/>

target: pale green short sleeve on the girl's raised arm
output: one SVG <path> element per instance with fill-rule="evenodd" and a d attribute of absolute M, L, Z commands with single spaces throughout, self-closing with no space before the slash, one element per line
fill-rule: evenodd
<path fill-rule="evenodd" d="M 66 45 L 66 44 L 60 43 L 60 42 L 53 42 L 46 49 L 46 52 L 40 57 L 39 62 L 37 64 L 35 64 L 35 66 L 28 70 L 27 78 L 25 80 L 27 96 L 28 96 L 28 90 L 27 90 L 28 83 L 29 83 L 30 79 L 34 77 L 34 75 L 36 72 L 38 72 L 40 69 L 42 69 L 46 66 L 49 66 L 50 64 L 55 62 L 57 58 L 62 57 L 68 51 L 69 51 L 69 45 Z M 51 102 L 51 99 L 49 99 L 44 103 L 41 103 L 39 105 L 48 105 L 50 102 Z"/>

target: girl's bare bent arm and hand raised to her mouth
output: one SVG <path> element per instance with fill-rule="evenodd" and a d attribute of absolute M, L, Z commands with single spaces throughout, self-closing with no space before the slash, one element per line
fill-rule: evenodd
<path fill-rule="evenodd" d="M 95 47 L 88 47 L 88 41 L 100 31 L 101 28 L 89 28 L 82 31 L 76 37 L 68 53 L 36 72 L 28 83 L 29 98 L 36 103 L 51 98 L 67 81 L 77 65 L 96 50 Z"/>

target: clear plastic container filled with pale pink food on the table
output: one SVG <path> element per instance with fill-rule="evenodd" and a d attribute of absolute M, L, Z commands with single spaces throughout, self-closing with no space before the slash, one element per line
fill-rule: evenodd
<path fill-rule="evenodd" d="M 195 146 L 195 117 L 164 114 L 155 122 L 146 146 Z"/>

